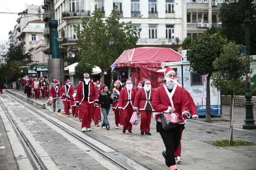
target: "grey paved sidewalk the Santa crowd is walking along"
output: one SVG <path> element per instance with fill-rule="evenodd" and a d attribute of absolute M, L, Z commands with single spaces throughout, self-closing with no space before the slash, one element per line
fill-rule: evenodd
<path fill-rule="evenodd" d="M 8 90 L 10 93 L 36 102 L 36 105 L 45 105 L 47 99 L 26 99 L 26 94 L 23 91 Z M 3 91 L 6 93 L 6 91 Z M 51 108 L 46 109 L 52 111 Z M 64 113 L 64 105 L 61 102 L 61 113 Z M 230 106 L 222 106 L 222 115 L 212 116 L 212 119 L 230 119 Z M 253 109 L 254 119 L 256 119 L 256 109 Z M 141 136 L 140 126 L 133 127 L 133 135 L 121 134 L 122 127 L 114 129 L 114 116 L 111 109 L 108 119 L 111 124 L 111 130 L 104 130 L 97 127 L 92 127 L 95 135 L 103 133 L 108 136 L 106 140 L 111 142 L 122 142 L 131 148 L 136 148 L 149 156 L 160 160 L 164 164 L 164 159 L 161 155 L 164 145 L 160 139 L 159 133 L 156 132 L 155 122 L 151 120 L 152 136 Z M 72 118 L 70 116 L 70 118 Z M 76 119 L 76 118 L 72 118 Z M 245 107 L 235 107 L 233 113 L 233 139 L 244 140 L 256 143 L 256 130 L 244 130 Z M 209 144 L 210 141 L 229 139 L 230 122 L 222 123 L 207 123 L 204 122 L 205 117 L 200 116 L 196 121 L 191 119 L 186 122 L 186 129 L 183 131 L 182 137 L 182 163 L 177 164 L 179 170 L 256 170 L 256 146 L 245 147 L 215 147 Z M 101 122 L 100 122 L 101 123 Z M 93 123 L 92 123 L 93 125 Z M 115 132 L 115 133 L 113 133 Z M 88 133 L 89 134 L 89 133 Z M 111 138 L 111 139 L 110 139 Z M 143 154 L 142 154 L 143 157 Z M 169 169 L 166 167 L 166 170 Z"/>

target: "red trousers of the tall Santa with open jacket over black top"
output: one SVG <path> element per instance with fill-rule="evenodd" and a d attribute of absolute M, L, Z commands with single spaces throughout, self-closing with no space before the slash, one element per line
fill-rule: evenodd
<path fill-rule="evenodd" d="M 90 124 L 92 122 L 92 114 L 93 114 L 93 103 L 89 103 L 88 101 L 83 101 L 79 106 L 79 113 L 82 113 L 83 121 L 81 127 L 90 128 Z"/>

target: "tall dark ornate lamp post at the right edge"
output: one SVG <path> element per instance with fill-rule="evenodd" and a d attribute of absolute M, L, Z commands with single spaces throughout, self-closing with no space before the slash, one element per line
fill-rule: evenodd
<path fill-rule="evenodd" d="M 229 4 L 235 4 L 238 3 L 239 0 L 228 0 Z M 241 13 L 245 9 L 245 55 L 247 55 L 248 58 L 250 58 L 250 18 L 249 18 L 249 9 L 250 8 L 256 8 L 255 4 L 251 3 L 251 0 L 244 0 L 244 6 L 242 8 L 239 8 L 239 11 L 236 11 L 236 13 Z M 243 129 L 256 129 L 255 120 L 253 119 L 253 103 L 251 101 L 252 99 L 252 93 L 251 93 L 251 84 L 250 84 L 250 63 L 246 67 L 246 79 L 247 79 L 247 85 L 246 85 L 246 92 L 245 92 L 245 124 L 243 125 Z"/>

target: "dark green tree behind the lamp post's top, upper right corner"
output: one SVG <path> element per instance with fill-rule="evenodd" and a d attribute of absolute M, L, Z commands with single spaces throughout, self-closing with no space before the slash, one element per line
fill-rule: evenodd
<path fill-rule="evenodd" d="M 240 14 L 236 13 L 238 8 L 243 8 L 244 4 L 240 0 L 239 4 L 229 5 L 221 3 L 220 20 L 221 31 L 220 35 L 227 40 L 235 41 L 236 44 L 245 44 L 245 11 Z M 233 7 L 236 7 L 235 9 Z M 250 9 L 250 54 L 256 54 L 256 11 Z"/>

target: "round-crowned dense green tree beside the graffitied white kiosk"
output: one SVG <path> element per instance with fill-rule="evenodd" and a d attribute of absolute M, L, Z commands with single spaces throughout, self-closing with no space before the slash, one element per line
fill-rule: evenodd
<path fill-rule="evenodd" d="M 210 114 L 210 78 L 215 68 L 212 62 L 223 52 L 223 45 L 227 40 L 217 34 L 203 34 L 193 40 L 192 46 L 187 53 L 187 59 L 191 63 L 191 68 L 199 74 L 207 74 L 206 85 L 206 121 L 211 120 Z"/>

